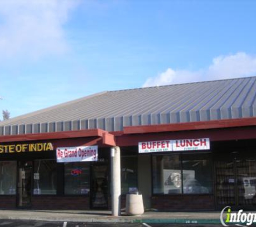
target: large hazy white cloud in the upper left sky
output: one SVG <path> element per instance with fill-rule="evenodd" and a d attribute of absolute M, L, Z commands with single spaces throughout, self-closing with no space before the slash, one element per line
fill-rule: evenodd
<path fill-rule="evenodd" d="M 0 58 L 39 58 L 68 49 L 63 25 L 77 0 L 0 1 Z"/>

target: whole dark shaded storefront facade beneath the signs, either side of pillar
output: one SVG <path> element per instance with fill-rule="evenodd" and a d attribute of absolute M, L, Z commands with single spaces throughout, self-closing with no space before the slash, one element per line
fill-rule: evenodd
<path fill-rule="evenodd" d="M 122 208 L 126 194 L 138 190 L 145 208 L 252 209 L 256 205 L 255 142 L 213 141 L 209 151 L 157 154 L 139 154 L 137 146 L 121 147 Z M 97 162 L 82 164 L 57 164 L 54 151 L 2 153 L 0 208 L 110 209 L 109 158 L 109 147 L 99 148 Z M 30 189 L 25 191 L 30 198 L 20 203 L 22 165 L 27 169 L 31 165 L 30 182 L 26 182 Z"/>

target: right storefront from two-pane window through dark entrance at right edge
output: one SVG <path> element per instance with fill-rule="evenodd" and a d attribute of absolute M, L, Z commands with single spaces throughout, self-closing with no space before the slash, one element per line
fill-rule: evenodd
<path fill-rule="evenodd" d="M 213 142 L 207 153 L 152 153 L 151 208 L 222 210 L 230 205 L 233 209 L 255 209 L 255 142 Z"/>

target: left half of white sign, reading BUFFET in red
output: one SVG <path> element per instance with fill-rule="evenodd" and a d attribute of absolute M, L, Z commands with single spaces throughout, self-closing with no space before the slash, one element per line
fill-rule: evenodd
<path fill-rule="evenodd" d="M 171 140 L 139 143 L 139 153 L 172 151 Z"/>

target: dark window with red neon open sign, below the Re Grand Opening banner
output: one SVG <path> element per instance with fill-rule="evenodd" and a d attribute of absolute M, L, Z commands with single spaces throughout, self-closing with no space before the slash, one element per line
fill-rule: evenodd
<path fill-rule="evenodd" d="M 65 163 L 65 194 L 84 195 L 90 191 L 89 162 Z"/>

